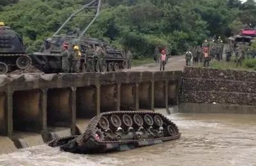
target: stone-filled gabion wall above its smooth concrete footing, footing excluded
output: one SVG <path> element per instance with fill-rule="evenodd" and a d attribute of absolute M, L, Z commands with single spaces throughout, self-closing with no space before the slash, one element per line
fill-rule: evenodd
<path fill-rule="evenodd" d="M 256 105 L 256 72 L 187 67 L 182 102 Z"/>

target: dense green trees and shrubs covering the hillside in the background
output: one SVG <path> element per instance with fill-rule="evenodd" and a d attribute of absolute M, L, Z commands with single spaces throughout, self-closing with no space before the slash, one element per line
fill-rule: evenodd
<path fill-rule="evenodd" d="M 84 3 L 1 0 L 0 20 L 22 34 L 28 52 L 33 52 Z M 132 50 L 136 57 L 152 55 L 156 46 L 179 54 L 209 36 L 227 38 L 244 24 L 256 26 L 253 0 L 105 0 L 102 8 L 88 35 Z"/>

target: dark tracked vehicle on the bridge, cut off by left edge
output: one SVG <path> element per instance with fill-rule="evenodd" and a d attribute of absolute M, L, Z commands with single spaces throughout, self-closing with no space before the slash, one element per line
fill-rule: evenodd
<path fill-rule="evenodd" d="M 0 74 L 25 70 L 30 65 L 31 59 L 25 53 L 19 34 L 10 27 L 0 26 Z"/>

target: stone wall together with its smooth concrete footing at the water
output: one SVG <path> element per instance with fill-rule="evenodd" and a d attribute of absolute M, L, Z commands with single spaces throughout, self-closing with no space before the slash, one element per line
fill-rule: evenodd
<path fill-rule="evenodd" d="M 187 67 L 180 112 L 256 114 L 256 72 Z"/>

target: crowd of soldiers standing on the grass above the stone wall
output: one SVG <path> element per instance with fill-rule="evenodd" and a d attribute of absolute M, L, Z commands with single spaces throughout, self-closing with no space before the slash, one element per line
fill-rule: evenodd
<path fill-rule="evenodd" d="M 204 63 L 204 67 L 209 67 L 209 62 L 212 59 L 216 59 L 217 61 L 223 60 L 223 53 L 225 53 L 225 61 L 230 62 L 233 52 L 236 56 L 235 62 L 237 66 L 242 65 L 243 59 L 246 56 L 248 58 L 254 57 L 248 43 L 237 43 L 236 47 L 232 44 L 225 45 L 224 49 L 223 41 L 219 37 L 218 40 L 214 38 L 205 40 L 202 46 L 196 46 L 193 50 L 186 52 L 186 65 L 190 66 L 191 60 L 193 60 L 193 64 L 200 62 Z"/>

